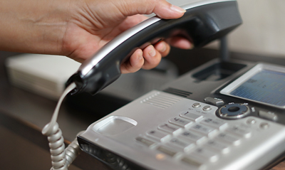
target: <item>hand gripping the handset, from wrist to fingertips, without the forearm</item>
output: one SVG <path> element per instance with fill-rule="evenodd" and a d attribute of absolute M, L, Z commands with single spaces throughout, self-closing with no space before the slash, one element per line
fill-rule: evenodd
<path fill-rule="evenodd" d="M 164 0 L 86 1 L 83 6 L 72 11 L 73 16 L 68 21 L 68 29 L 63 42 L 64 48 L 67 51 L 72 51 L 68 56 L 79 61 L 90 57 L 119 33 L 147 18 L 135 14 L 152 14 L 154 12 L 161 18 L 178 18 L 184 14 L 184 10 L 172 6 Z M 176 38 L 176 43 L 179 41 L 181 43 L 183 40 Z M 190 43 L 185 43 L 185 46 L 189 48 Z M 165 42 L 147 46 L 143 50 L 138 49 L 128 62 L 121 65 L 121 72 L 132 73 L 140 68 L 154 68 L 160 63 L 161 57 L 169 52 L 170 46 Z"/>

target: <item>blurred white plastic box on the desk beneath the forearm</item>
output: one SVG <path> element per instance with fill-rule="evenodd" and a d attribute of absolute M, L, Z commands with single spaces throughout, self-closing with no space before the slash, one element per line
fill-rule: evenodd
<path fill-rule="evenodd" d="M 61 55 L 21 54 L 6 60 L 12 85 L 58 100 L 81 63 Z"/>

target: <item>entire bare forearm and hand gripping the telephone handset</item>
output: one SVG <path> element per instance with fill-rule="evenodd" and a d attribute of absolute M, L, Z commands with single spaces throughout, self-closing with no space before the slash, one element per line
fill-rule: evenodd
<path fill-rule="evenodd" d="M 0 49 L 66 55 L 79 62 L 145 20 L 145 16 L 138 14 L 155 13 L 168 19 L 179 18 L 185 12 L 165 0 L 2 0 L 2 4 L 1 18 L 7 19 L 6 23 L 5 20 L 0 23 L 8 27 L 4 31 L 0 28 L 0 37 L 4 37 Z M 14 14 L 10 15 L 9 11 Z M 9 23 L 17 27 L 9 27 Z M 170 38 L 167 42 L 179 48 L 191 48 L 191 43 L 183 38 Z M 121 65 L 121 72 L 154 68 L 169 53 L 168 43 L 162 41 L 138 49 Z"/>

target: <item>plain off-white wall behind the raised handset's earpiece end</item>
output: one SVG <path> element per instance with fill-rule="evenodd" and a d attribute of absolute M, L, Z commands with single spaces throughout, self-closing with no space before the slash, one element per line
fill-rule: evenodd
<path fill-rule="evenodd" d="M 168 0 L 187 4 L 187 0 Z M 188 1 L 189 2 L 189 1 Z M 285 58 L 285 1 L 237 0 L 243 24 L 229 35 L 231 51 Z M 217 42 L 209 48 L 217 48 Z"/>

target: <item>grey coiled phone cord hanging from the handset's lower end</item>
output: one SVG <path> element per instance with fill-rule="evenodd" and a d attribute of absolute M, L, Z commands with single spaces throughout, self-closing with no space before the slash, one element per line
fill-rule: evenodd
<path fill-rule="evenodd" d="M 67 170 L 68 166 L 73 162 L 74 159 L 76 159 L 76 156 L 81 151 L 77 139 L 74 139 L 73 142 L 71 142 L 71 144 L 69 144 L 65 149 L 62 132 L 58 126 L 58 123 L 56 122 L 56 119 L 58 118 L 58 111 L 61 107 L 61 103 L 63 102 L 64 97 L 66 97 L 66 95 L 68 95 L 68 93 L 71 92 L 71 90 L 74 88 L 76 88 L 76 84 L 71 83 L 71 85 L 69 85 L 66 90 L 64 90 L 63 94 L 58 100 L 56 109 L 53 112 L 51 122 L 46 124 L 42 130 L 42 134 L 48 137 L 51 152 L 51 170 Z"/>

